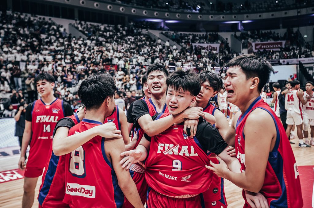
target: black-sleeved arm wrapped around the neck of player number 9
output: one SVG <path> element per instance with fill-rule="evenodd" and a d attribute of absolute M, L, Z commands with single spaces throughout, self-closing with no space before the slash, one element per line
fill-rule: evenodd
<path fill-rule="evenodd" d="M 187 108 L 177 115 L 169 115 L 164 118 L 153 121 L 149 115 L 146 102 L 137 100 L 134 102 L 132 115 L 135 118 L 135 123 L 140 126 L 148 136 L 154 136 L 168 129 L 172 124 L 178 122 L 183 118 L 198 119 L 200 116 L 204 117 L 203 109 L 200 107 Z M 158 128 L 156 128 L 158 127 Z"/>

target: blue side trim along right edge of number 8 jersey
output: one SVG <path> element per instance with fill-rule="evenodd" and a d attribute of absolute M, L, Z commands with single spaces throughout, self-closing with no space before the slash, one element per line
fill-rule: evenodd
<path fill-rule="evenodd" d="M 116 207 L 122 207 L 123 202 L 124 202 L 124 195 L 123 195 L 122 190 L 119 187 L 118 179 L 116 177 L 116 173 L 115 173 L 115 171 L 114 171 L 114 169 L 112 167 L 112 164 L 111 164 L 111 162 L 108 160 L 108 158 L 106 156 L 106 152 L 105 152 L 105 138 L 104 137 L 101 139 L 101 153 L 102 153 L 102 156 L 105 159 L 106 163 L 111 168 L 112 186 L 113 186 L 113 191 L 114 191 L 114 196 L 115 196 Z"/>

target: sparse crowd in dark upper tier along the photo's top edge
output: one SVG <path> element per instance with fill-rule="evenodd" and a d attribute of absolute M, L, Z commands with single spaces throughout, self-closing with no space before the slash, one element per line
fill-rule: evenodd
<path fill-rule="evenodd" d="M 266 1 L 243 1 L 243 2 L 222 2 L 222 1 L 139 1 L 139 0 L 111 0 L 111 2 L 134 5 L 145 8 L 156 8 L 170 11 L 200 12 L 200 13 L 252 13 L 269 12 L 278 10 L 290 10 L 295 8 L 311 7 L 313 0 L 266 0 Z"/>

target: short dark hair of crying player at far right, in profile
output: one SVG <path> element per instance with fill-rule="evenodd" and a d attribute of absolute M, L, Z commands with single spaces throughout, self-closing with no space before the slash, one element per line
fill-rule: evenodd
<path fill-rule="evenodd" d="M 258 91 L 261 92 L 264 85 L 268 82 L 270 73 L 273 72 L 272 65 L 256 55 L 240 55 L 231 59 L 227 67 L 239 66 L 246 79 L 257 76 L 259 78 Z"/>

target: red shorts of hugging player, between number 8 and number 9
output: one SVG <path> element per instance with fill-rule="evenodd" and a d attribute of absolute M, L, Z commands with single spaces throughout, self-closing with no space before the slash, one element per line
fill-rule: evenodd
<path fill-rule="evenodd" d="M 143 205 L 146 203 L 146 194 L 147 194 L 147 183 L 145 180 L 145 173 L 134 172 L 130 170 L 131 177 L 138 189 L 138 194 L 142 200 Z M 122 205 L 123 208 L 133 208 L 131 203 L 124 197 L 124 202 Z"/>

